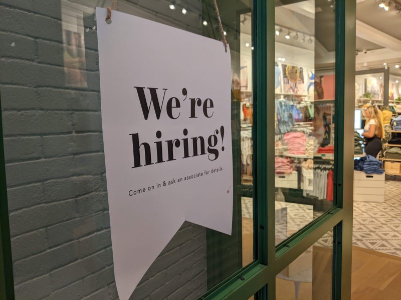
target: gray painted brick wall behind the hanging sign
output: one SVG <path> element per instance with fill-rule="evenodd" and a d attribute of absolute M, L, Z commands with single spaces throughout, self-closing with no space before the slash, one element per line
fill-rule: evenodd
<path fill-rule="evenodd" d="M 87 24 L 88 86 L 66 85 L 62 2 L 90 8 L 98 3 L 0 0 L 0 93 L 16 299 L 117 299 L 96 31 L 94 23 Z M 199 30 L 198 17 L 171 17 L 160 1 L 136 2 L 121 0 L 120 10 Z M 204 293 L 206 246 L 205 228 L 185 222 L 131 298 L 193 299 Z"/>

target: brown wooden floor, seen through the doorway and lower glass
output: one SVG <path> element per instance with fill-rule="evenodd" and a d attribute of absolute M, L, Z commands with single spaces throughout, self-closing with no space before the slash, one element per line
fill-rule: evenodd
<path fill-rule="evenodd" d="M 252 220 L 243 218 L 243 265 L 252 261 L 252 229 Z M 314 253 L 314 261 L 319 262 L 315 264 L 319 267 L 314 267 L 315 287 L 310 282 L 301 283 L 299 300 L 323 300 L 326 294 L 330 298 L 331 253 Z M 294 282 L 276 279 L 276 300 L 281 299 L 295 300 Z M 401 300 L 401 257 L 353 246 L 351 300 L 384 299 Z"/>

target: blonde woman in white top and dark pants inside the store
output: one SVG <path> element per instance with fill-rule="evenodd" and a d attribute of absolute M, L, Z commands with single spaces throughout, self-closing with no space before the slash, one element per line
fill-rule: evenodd
<path fill-rule="evenodd" d="M 366 139 L 365 153 L 376 157 L 381 151 L 381 138 L 383 137 L 383 125 L 381 124 L 377 108 L 368 106 L 364 109 L 366 123 L 362 136 Z"/>

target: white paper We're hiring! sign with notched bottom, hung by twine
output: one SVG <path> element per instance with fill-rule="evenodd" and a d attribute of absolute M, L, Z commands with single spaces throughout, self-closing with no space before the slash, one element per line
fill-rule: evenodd
<path fill-rule="evenodd" d="M 231 62 L 221 41 L 97 8 L 120 299 L 187 220 L 231 234 Z"/>

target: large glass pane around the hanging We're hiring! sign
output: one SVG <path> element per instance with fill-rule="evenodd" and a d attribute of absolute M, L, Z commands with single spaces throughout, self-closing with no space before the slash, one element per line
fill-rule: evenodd
<path fill-rule="evenodd" d="M 16 299 L 117 299 L 95 20 L 95 7 L 112 1 L 39 2 L 0 0 Z M 184 222 L 131 299 L 194 299 L 254 260 L 253 202 L 244 197 L 252 196 L 252 2 L 218 1 L 232 61 L 233 233 Z M 212 1 L 119 0 L 116 10 L 220 39 Z"/>

